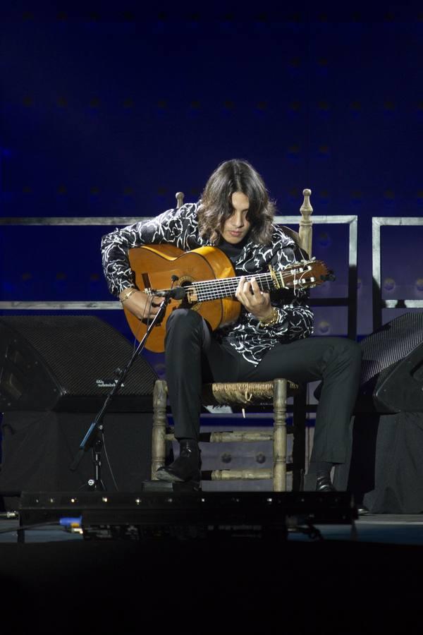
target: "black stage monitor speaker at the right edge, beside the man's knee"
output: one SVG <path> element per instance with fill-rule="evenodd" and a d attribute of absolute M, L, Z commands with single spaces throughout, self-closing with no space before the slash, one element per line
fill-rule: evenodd
<path fill-rule="evenodd" d="M 423 312 L 405 313 L 364 338 L 356 412 L 423 411 Z"/>

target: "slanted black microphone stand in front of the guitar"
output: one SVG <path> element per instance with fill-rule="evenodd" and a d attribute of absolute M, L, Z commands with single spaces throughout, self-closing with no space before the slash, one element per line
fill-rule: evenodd
<path fill-rule="evenodd" d="M 177 287 L 176 289 L 179 290 L 181 289 L 181 287 Z M 85 437 L 80 442 L 80 449 L 78 450 L 78 453 L 76 454 L 75 459 L 73 459 L 73 462 L 70 468 L 74 472 L 76 468 L 78 468 L 78 465 L 80 464 L 82 456 L 84 456 L 85 452 L 87 452 L 88 449 L 90 448 L 92 449 L 92 464 L 94 466 L 94 478 L 90 478 L 87 482 L 87 486 L 89 490 L 102 491 L 102 492 L 106 491 L 106 487 L 104 486 L 104 483 L 102 481 L 102 448 L 103 448 L 102 437 L 103 437 L 103 430 L 104 430 L 104 423 L 103 423 L 104 413 L 106 412 L 115 394 L 121 388 L 121 385 L 123 384 L 123 381 L 125 380 L 126 375 L 128 375 L 128 370 L 133 365 L 135 357 L 144 348 L 145 342 L 147 341 L 147 337 L 149 336 L 150 332 L 152 331 L 154 326 L 157 324 L 157 322 L 161 322 L 161 320 L 163 319 L 166 306 L 168 306 L 168 303 L 171 301 L 171 298 L 174 295 L 172 291 L 176 291 L 176 289 L 169 289 L 168 291 L 164 292 L 164 298 L 160 304 L 160 308 L 158 312 L 156 313 L 156 315 L 154 315 L 151 324 L 149 325 L 149 327 L 147 328 L 147 331 L 145 332 L 144 337 L 139 342 L 137 348 L 133 352 L 133 356 L 130 358 L 125 368 L 123 368 L 123 370 L 121 370 L 118 373 L 118 379 L 116 380 L 114 387 L 111 389 L 109 394 L 107 394 L 106 399 L 104 400 L 104 404 L 102 405 L 102 408 L 99 410 L 99 412 L 95 416 L 94 421 L 92 422 L 92 424 L 90 425 L 90 428 L 88 428 L 87 433 L 85 434 Z M 176 297 L 178 297 L 178 295 L 176 295 Z"/>

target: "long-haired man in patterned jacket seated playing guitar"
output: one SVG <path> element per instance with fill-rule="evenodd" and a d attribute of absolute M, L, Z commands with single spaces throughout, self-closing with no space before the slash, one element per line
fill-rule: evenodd
<path fill-rule="evenodd" d="M 109 289 L 137 320 L 152 318 L 159 298 L 137 284 L 130 265 L 133 248 L 171 245 L 183 252 L 200 248 L 200 253 L 201 248 L 218 248 L 239 277 L 231 291 L 240 303 L 235 320 L 223 320 L 213 330 L 199 310 L 184 304 L 166 319 L 166 381 L 180 454 L 171 465 L 159 468 L 161 480 L 200 482 L 204 382 L 286 377 L 299 383 L 322 380 L 305 489 L 334 489 L 330 472 L 346 459 L 360 380 L 360 346 L 342 337 L 309 337 L 313 314 L 300 284 L 276 284 L 276 289 L 262 284 L 269 266 L 277 280 L 278 272 L 305 256 L 273 217 L 274 205 L 262 177 L 246 161 L 232 159 L 209 177 L 199 202 L 116 229 L 102 240 Z"/>

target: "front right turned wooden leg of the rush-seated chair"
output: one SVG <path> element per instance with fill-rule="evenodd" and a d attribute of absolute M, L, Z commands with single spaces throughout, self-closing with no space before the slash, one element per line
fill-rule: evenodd
<path fill-rule="evenodd" d="M 286 394 L 286 380 L 274 380 L 274 492 L 286 492 Z"/>

